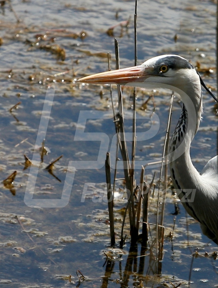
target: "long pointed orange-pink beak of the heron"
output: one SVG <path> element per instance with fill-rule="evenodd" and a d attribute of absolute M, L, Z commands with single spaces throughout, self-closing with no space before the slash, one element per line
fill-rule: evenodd
<path fill-rule="evenodd" d="M 119 85 L 129 82 L 143 82 L 146 78 L 152 75 L 152 68 L 145 65 L 138 65 L 124 69 L 106 71 L 102 73 L 93 74 L 90 76 L 78 79 L 79 82 L 91 84 L 112 84 Z"/>

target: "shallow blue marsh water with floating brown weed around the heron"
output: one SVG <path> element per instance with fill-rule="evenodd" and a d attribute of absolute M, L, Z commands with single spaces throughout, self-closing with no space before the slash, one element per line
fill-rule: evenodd
<path fill-rule="evenodd" d="M 61 198 L 69 161 L 96 161 L 99 141 L 74 141 L 74 133 L 79 127 L 78 118 L 82 110 L 87 111 L 87 115 L 92 110 L 103 110 L 102 115 L 105 115 L 110 105 L 109 89 L 78 84 L 73 79 L 107 70 L 107 52 L 111 53 L 111 66 L 114 68 L 114 37 L 107 35 L 106 31 L 111 26 L 128 20 L 129 16 L 129 28 L 117 26 L 114 36 L 119 40 L 121 67 L 133 65 L 134 5 L 134 1 L 115 0 L 13 1 L 12 7 L 21 19 L 17 23 L 15 15 L 5 2 L 4 15 L 3 10 L 0 15 L 0 36 L 3 39 L 0 47 L 0 178 L 7 178 L 15 170 L 17 175 L 14 181 L 15 196 L 3 184 L 0 186 L 2 285 L 74 287 L 78 284 L 76 270 L 79 269 L 90 280 L 83 282 L 80 287 L 107 286 L 106 281 L 100 278 L 108 269 L 107 265 L 103 266 L 105 255 L 102 252 L 109 246 L 107 204 L 104 201 L 93 202 L 92 196 L 81 202 L 85 184 L 93 183 L 88 187 L 91 193 L 97 188 L 105 189 L 103 165 L 99 169 L 76 171 L 69 203 L 65 207 L 31 208 L 24 203 L 30 168 L 23 170 L 23 155 L 32 159 L 45 95 L 51 86 L 50 89 L 55 89 L 55 97 L 45 137 L 45 146 L 49 153 L 44 156 L 39 168 L 34 199 Z M 216 4 L 213 1 L 139 1 L 138 63 L 158 54 L 176 53 L 190 59 L 194 65 L 199 61 L 201 68 L 213 69 L 214 72 L 209 76 L 203 73 L 202 76 L 207 85 L 216 87 L 215 11 Z M 175 35 L 178 36 L 176 42 Z M 58 51 L 55 50 L 54 53 L 52 49 Z M 65 49 L 65 59 L 62 58 L 64 52 L 61 49 Z M 100 94 L 103 94 L 102 99 Z M 147 97 L 146 93 L 142 95 L 139 92 L 138 115 L 145 119 L 139 119 L 138 132 L 149 129 L 150 120 L 140 110 Z M 214 102 L 206 92 L 203 92 L 203 99 L 203 121 L 191 149 L 193 162 L 199 171 L 208 159 L 216 155 L 217 116 L 213 111 Z M 9 112 L 18 102 L 21 102 L 18 109 Z M 140 161 L 151 161 L 162 153 L 169 95 L 159 93 L 154 96 L 154 103 L 155 112 L 160 119 L 160 129 L 154 138 L 137 143 L 136 155 Z M 175 101 L 171 127 L 176 125 L 180 106 Z M 127 103 L 125 107 L 128 108 Z M 153 111 L 152 101 L 148 102 L 147 109 Z M 104 132 L 111 143 L 115 133 L 112 119 L 94 120 L 96 119 L 87 119 L 84 132 Z M 128 120 L 126 130 L 130 131 Z M 27 140 L 22 142 L 24 139 Z M 53 170 L 60 182 L 45 167 L 61 155 L 63 157 L 55 163 L 56 169 Z M 148 180 L 156 170 L 159 172 L 159 168 L 146 169 Z M 140 171 L 136 171 L 138 178 L 139 173 Z M 122 176 L 122 171 L 120 175 Z M 117 187 L 122 188 L 122 182 L 117 183 Z M 121 201 L 115 208 L 123 206 Z M 166 234 L 172 232 L 173 212 L 174 205 L 167 203 L 164 223 Z M 151 211 L 151 222 L 152 217 Z M 116 213 L 117 233 L 120 231 L 121 218 L 122 215 Z M 165 239 L 162 276 L 153 277 L 150 273 L 150 276 L 145 277 L 148 268 L 146 263 L 144 277 L 134 272 L 130 274 L 129 281 L 120 283 L 119 280 L 124 279 L 128 257 L 125 254 L 122 255 L 122 260 L 112 261 L 108 286 L 139 286 L 142 280 L 147 287 L 173 287 L 170 281 L 175 286 L 176 283 L 181 283 L 180 287 L 186 287 L 190 270 L 193 282 L 191 287 L 217 285 L 216 255 L 211 256 L 217 247 L 202 236 L 198 223 L 192 219 L 189 219 L 190 247 L 187 247 L 186 215 L 181 205 L 175 227 L 173 250 L 172 243 L 169 243 L 167 237 Z M 127 241 L 124 250 L 128 252 L 128 249 Z M 192 264 L 191 251 L 196 249 L 201 254 L 196 256 Z M 205 257 L 205 252 L 209 253 L 208 257 Z M 75 277 L 71 283 L 64 276 L 56 276 L 70 274 Z M 115 281 L 116 279 L 119 280 Z"/>

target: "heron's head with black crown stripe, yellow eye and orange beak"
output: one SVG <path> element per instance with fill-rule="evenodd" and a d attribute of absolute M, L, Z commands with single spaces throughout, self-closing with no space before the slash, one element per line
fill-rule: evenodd
<path fill-rule="evenodd" d="M 128 84 L 148 88 L 176 88 L 184 92 L 201 91 L 200 78 L 195 68 L 179 55 L 159 55 L 143 64 L 102 72 L 79 79 L 92 84 Z M 169 87 L 172 86 L 172 87 Z"/>

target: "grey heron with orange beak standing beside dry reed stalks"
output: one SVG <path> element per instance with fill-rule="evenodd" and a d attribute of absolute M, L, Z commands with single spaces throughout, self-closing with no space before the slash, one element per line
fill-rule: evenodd
<path fill-rule="evenodd" d="M 183 108 L 170 141 L 170 175 L 186 211 L 200 223 L 203 234 L 218 244 L 218 156 L 210 159 L 201 173 L 190 157 L 191 142 L 199 129 L 203 110 L 203 81 L 193 65 L 179 55 L 160 55 L 142 65 L 102 72 L 78 81 L 128 83 L 135 87 L 167 88 L 178 93 Z"/>

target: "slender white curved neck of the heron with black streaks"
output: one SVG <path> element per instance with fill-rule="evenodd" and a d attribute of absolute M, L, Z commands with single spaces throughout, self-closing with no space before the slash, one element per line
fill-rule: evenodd
<path fill-rule="evenodd" d="M 190 146 L 201 120 L 202 97 L 201 92 L 188 95 L 181 91 L 180 97 L 183 109 L 170 142 L 170 173 L 175 188 L 193 189 L 200 175 L 191 161 Z"/>

